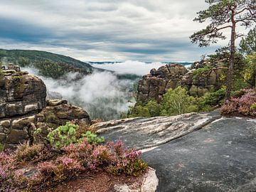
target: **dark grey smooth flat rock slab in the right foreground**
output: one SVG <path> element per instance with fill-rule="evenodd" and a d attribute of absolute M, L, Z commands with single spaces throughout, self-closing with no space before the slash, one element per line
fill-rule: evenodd
<path fill-rule="evenodd" d="M 256 120 L 222 118 L 143 154 L 157 191 L 256 191 Z"/>

